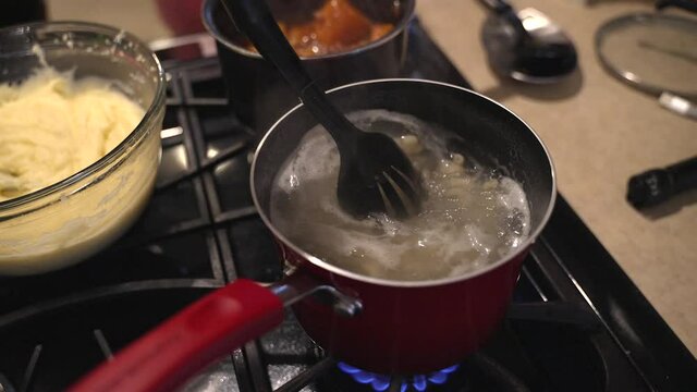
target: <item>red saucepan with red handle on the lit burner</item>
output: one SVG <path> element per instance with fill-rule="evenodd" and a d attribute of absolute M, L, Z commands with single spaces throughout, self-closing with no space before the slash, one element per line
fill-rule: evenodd
<path fill-rule="evenodd" d="M 313 117 L 298 106 L 267 133 L 252 167 L 259 215 L 276 236 L 286 278 L 265 287 L 240 279 L 188 306 L 82 379 L 73 391 L 164 391 L 278 326 L 284 305 L 332 356 L 367 370 L 423 373 L 476 351 L 503 319 L 530 244 L 555 197 L 554 171 L 537 135 L 501 105 L 462 87 L 383 79 L 334 89 L 344 111 L 388 109 L 452 131 L 452 150 L 498 168 L 523 185 L 530 237 L 519 250 L 457 278 L 400 282 L 342 270 L 304 252 L 269 219 L 274 177 Z M 318 162 L 321 164 L 321 162 Z"/>

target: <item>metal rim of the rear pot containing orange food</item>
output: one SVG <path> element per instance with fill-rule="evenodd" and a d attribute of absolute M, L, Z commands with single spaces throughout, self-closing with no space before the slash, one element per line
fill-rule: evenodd
<path fill-rule="evenodd" d="M 213 16 L 212 16 L 213 5 L 218 4 L 219 1 L 220 0 L 204 0 L 201 4 L 201 11 L 200 11 L 201 21 L 204 22 L 204 27 L 206 27 L 206 30 L 208 32 L 208 34 L 210 34 L 216 39 L 217 42 L 224 45 L 228 49 L 239 54 L 253 58 L 253 59 L 262 60 L 264 57 L 261 54 L 254 51 L 249 51 L 232 42 L 228 37 L 225 37 L 225 35 L 222 34 L 222 32 L 215 24 Z M 401 35 L 408 27 L 408 24 L 412 21 L 412 19 L 414 19 L 416 0 L 400 0 L 400 3 L 404 4 L 405 7 L 404 14 L 400 17 L 398 23 L 394 24 L 394 28 L 392 28 L 390 33 L 386 34 L 379 39 L 372 40 L 366 45 L 358 46 L 348 51 L 341 51 L 337 53 L 327 53 L 327 54 L 311 56 L 311 57 L 304 57 L 298 54 L 298 58 L 302 61 L 321 61 L 321 60 L 328 60 L 328 59 L 337 59 L 344 56 L 363 53 L 365 51 L 371 50 L 374 48 L 380 47 L 391 41 L 392 39 Z"/>

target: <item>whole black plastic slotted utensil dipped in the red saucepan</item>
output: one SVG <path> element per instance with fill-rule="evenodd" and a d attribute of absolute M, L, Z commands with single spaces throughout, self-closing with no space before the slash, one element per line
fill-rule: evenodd
<path fill-rule="evenodd" d="M 341 208 L 357 218 L 383 212 L 402 219 L 418 213 L 423 193 L 412 162 L 391 137 L 358 130 L 329 102 L 301 64 L 266 2 L 223 0 L 222 4 L 337 143 Z"/>

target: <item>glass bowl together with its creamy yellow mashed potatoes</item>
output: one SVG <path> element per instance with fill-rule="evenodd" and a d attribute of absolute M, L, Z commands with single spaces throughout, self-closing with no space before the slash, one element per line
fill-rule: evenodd
<path fill-rule="evenodd" d="M 32 24 L 0 29 L 0 275 L 82 261 L 152 192 L 163 71 L 125 32 Z"/>

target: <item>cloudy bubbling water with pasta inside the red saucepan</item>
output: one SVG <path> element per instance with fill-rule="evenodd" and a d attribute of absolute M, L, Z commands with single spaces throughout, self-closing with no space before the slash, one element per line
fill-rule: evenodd
<path fill-rule="evenodd" d="M 420 281 L 484 268 L 525 241 L 529 209 L 515 181 L 448 151 L 437 136 L 442 131 L 416 118 L 383 110 L 350 118 L 390 134 L 413 160 L 427 192 L 423 210 L 405 221 L 344 213 L 337 200 L 339 152 L 317 126 L 284 163 L 271 194 L 271 221 L 301 248 L 364 275 Z"/>

